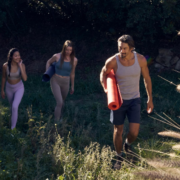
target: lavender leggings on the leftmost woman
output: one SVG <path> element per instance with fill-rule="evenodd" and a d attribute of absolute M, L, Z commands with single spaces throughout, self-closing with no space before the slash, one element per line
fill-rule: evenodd
<path fill-rule="evenodd" d="M 18 119 L 18 107 L 24 94 L 24 84 L 19 81 L 17 84 L 6 82 L 6 95 L 11 106 L 11 129 L 16 127 Z"/>

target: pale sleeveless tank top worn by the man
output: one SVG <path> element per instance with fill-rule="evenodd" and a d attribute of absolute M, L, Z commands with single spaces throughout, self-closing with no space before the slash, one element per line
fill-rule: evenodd
<path fill-rule="evenodd" d="M 117 71 L 115 73 L 117 84 L 120 88 L 122 99 L 130 100 L 140 97 L 139 80 L 141 68 L 137 59 L 136 52 L 134 53 L 135 62 L 131 66 L 123 66 L 120 63 L 118 54 L 116 54 Z"/>

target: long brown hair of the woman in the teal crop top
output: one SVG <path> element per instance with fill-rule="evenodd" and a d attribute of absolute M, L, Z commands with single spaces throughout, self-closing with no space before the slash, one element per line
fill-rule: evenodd
<path fill-rule="evenodd" d="M 71 52 L 71 54 L 70 54 L 70 58 L 71 58 L 70 63 L 71 63 L 71 66 L 73 66 L 73 64 L 74 64 L 74 57 L 75 57 L 74 46 L 73 46 L 72 41 L 67 40 L 67 41 L 65 41 L 65 43 L 64 43 L 64 45 L 63 45 L 63 48 L 62 48 L 62 51 L 61 51 L 60 67 L 62 67 L 62 65 L 63 65 L 63 63 L 64 63 L 64 58 L 65 58 L 65 55 L 66 55 L 65 50 L 66 50 L 67 47 L 72 47 L 72 52 Z"/>

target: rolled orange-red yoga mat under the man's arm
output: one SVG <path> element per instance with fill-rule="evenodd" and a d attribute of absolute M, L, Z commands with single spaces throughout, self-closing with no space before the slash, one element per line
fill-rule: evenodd
<path fill-rule="evenodd" d="M 119 109 L 123 103 L 119 86 L 117 86 L 114 70 L 111 70 L 107 75 L 107 101 L 108 108 L 111 110 Z"/>

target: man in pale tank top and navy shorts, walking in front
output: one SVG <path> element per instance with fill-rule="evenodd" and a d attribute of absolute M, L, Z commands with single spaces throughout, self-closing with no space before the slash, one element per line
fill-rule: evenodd
<path fill-rule="evenodd" d="M 131 36 L 123 35 L 118 39 L 119 53 L 106 60 L 105 66 L 100 74 L 100 81 L 107 93 L 106 75 L 114 70 L 117 85 L 120 88 L 123 104 L 110 113 L 110 121 L 114 124 L 113 142 L 117 152 L 117 159 L 114 169 L 121 168 L 122 161 L 122 134 L 126 116 L 129 121 L 129 133 L 125 140 L 123 149 L 125 153 L 130 152 L 130 145 L 135 141 L 139 133 L 141 100 L 139 92 L 139 80 L 142 73 L 147 92 L 147 112 L 151 113 L 154 105 L 152 100 L 152 83 L 149 76 L 147 61 L 141 54 L 133 51 L 134 41 Z"/>

